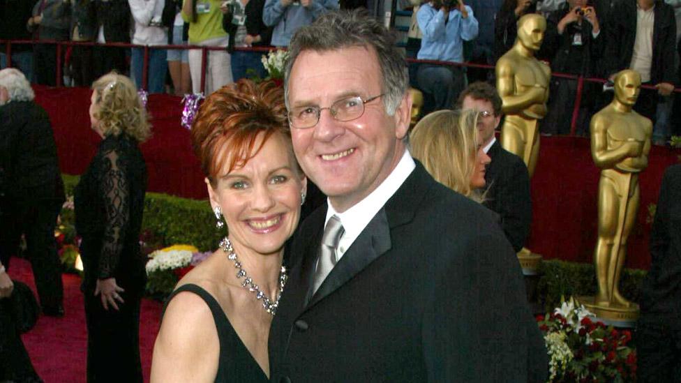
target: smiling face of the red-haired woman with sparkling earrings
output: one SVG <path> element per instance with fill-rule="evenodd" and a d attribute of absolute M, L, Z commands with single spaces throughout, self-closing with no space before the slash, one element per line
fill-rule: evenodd
<path fill-rule="evenodd" d="M 298 225 L 307 181 L 287 140 L 271 135 L 244 167 L 220 172 L 216 188 L 208 186 L 211 204 L 222 209 L 237 251 L 278 253 Z"/>

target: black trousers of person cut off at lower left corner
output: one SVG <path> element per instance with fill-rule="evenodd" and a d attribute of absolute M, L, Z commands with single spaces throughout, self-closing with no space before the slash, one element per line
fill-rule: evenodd
<path fill-rule="evenodd" d="M 42 382 L 11 315 L 10 299 L 0 299 L 0 382 Z"/>

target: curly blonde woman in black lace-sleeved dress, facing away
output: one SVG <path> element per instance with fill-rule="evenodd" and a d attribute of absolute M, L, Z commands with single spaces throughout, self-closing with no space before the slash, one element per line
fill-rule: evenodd
<path fill-rule="evenodd" d="M 149 136 L 149 123 L 128 77 L 110 73 L 92 89 L 91 125 L 103 140 L 75 188 L 87 380 L 142 382 L 138 334 L 146 276 L 139 236 L 147 167 L 138 143 Z"/>

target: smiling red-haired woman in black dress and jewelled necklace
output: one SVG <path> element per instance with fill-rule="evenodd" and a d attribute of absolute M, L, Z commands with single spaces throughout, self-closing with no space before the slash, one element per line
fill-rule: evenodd
<path fill-rule="evenodd" d="M 306 179 L 293 153 L 283 90 L 269 82 L 212 93 L 192 126 L 220 248 L 182 278 L 154 346 L 151 382 L 267 382 L 267 338 Z"/>

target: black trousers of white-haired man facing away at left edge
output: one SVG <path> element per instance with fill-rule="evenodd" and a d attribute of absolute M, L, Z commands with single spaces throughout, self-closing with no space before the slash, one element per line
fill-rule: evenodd
<path fill-rule="evenodd" d="M 50 308 L 63 302 L 61 262 L 54 239 L 54 227 L 57 226 L 61 204 L 61 200 L 6 202 L 3 203 L 0 223 L 0 262 L 9 266 L 10 257 L 19 250 L 23 234 L 40 304 Z"/>

